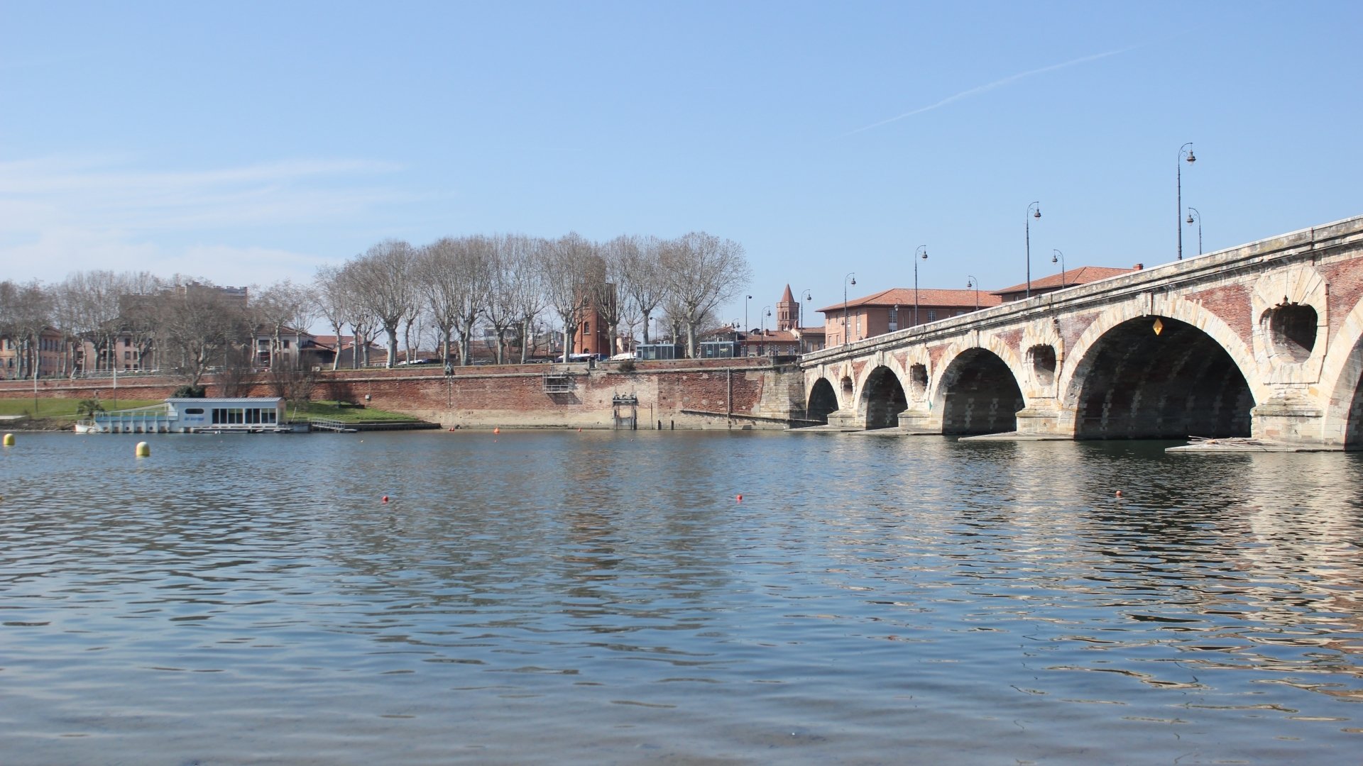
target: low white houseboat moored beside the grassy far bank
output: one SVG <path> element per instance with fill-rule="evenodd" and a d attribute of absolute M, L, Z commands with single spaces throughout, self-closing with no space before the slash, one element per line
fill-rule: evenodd
<path fill-rule="evenodd" d="M 170 398 L 159 405 L 99 412 L 76 423 L 76 433 L 290 433 L 282 397 Z"/>

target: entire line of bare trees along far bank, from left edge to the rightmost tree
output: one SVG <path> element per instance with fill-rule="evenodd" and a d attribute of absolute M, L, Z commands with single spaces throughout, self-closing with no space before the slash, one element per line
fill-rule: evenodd
<path fill-rule="evenodd" d="M 18 364 L 10 378 L 35 375 L 40 354 L 48 353 L 60 354 L 59 375 L 157 368 L 198 384 L 211 368 L 249 368 L 258 338 L 267 338 L 259 342 L 270 349 L 271 372 L 296 364 L 304 333 L 320 320 L 338 341 L 354 339 L 353 367 L 371 363 L 379 338 L 390 367 L 399 342 L 412 358 L 424 341 L 438 343 L 443 358 L 469 364 L 484 331 L 495 339 L 497 363 L 523 363 L 545 322 L 563 328 L 567 358 L 574 330 L 590 311 L 612 338 L 628 341 L 642 331 L 649 342 L 650 320 L 658 318 L 673 338 L 684 334 L 694 356 L 698 335 L 717 324 L 716 307 L 750 275 L 741 245 L 705 233 L 605 243 L 575 233 L 553 240 L 478 234 L 421 247 L 384 240 L 319 269 L 312 284 L 285 279 L 252 289 L 249 303 L 240 289 L 146 271 L 79 271 L 50 285 L 3 281 L 0 341 L 16 352 L 8 354 Z M 294 353 L 286 354 L 290 338 Z M 519 358 L 508 358 L 512 353 Z"/>

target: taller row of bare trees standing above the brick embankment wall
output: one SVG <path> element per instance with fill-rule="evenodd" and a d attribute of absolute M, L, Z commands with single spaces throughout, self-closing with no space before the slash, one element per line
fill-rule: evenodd
<path fill-rule="evenodd" d="M 433 331 L 442 356 L 469 364 L 477 331 L 496 339 L 497 363 L 519 352 L 526 361 L 544 318 L 572 335 L 594 311 L 612 338 L 634 338 L 664 318 L 672 335 L 686 334 L 694 356 L 698 335 L 714 324 L 714 309 L 747 286 L 743 247 L 706 233 L 675 240 L 622 236 L 594 243 L 570 233 L 556 240 L 523 234 L 446 237 L 423 247 L 384 240 L 335 267 L 319 270 L 318 307 L 339 337 L 346 327 L 357 348 L 379 337 L 388 363 L 398 342 Z M 363 353 L 363 352 L 361 352 Z"/>

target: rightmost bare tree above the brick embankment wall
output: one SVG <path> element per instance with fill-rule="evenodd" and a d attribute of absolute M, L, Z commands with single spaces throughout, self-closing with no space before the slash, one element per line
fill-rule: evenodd
<path fill-rule="evenodd" d="M 714 307 L 747 286 L 752 270 L 743 245 L 692 232 L 662 249 L 661 274 L 686 327 L 686 353 L 695 357 L 696 328 Z"/>

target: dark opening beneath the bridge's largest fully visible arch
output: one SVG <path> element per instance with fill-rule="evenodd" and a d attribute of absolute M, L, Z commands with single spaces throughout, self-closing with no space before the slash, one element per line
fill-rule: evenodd
<path fill-rule="evenodd" d="M 1153 316 L 1118 324 L 1089 352 L 1075 439 L 1249 436 L 1254 397 L 1231 354 L 1197 327 Z"/>

